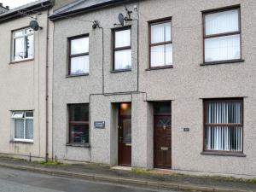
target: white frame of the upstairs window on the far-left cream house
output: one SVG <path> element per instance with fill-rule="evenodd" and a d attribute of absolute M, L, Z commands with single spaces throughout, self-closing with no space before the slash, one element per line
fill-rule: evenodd
<path fill-rule="evenodd" d="M 32 30 L 32 33 L 30 34 L 26 34 L 26 30 L 32 30 L 30 27 L 26 27 L 23 29 L 19 29 L 19 30 L 14 30 L 12 31 L 12 59 L 11 61 L 15 62 L 15 61 L 26 61 L 26 60 L 32 60 L 34 59 L 34 55 L 35 55 L 35 38 L 34 38 L 34 32 Z M 23 32 L 22 35 L 15 37 L 15 32 Z M 28 58 L 24 58 L 24 53 L 25 53 L 25 44 L 23 44 L 23 59 L 19 59 L 19 60 L 15 60 L 15 39 L 16 38 L 23 38 L 25 39 L 26 37 L 29 36 L 33 36 L 33 48 L 32 48 L 32 57 L 28 57 Z"/>

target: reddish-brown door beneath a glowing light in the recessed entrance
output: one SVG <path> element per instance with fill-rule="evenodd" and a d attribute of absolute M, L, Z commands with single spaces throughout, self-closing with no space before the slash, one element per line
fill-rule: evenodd
<path fill-rule="evenodd" d="M 119 107 L 119 166 L 131 166 L 131 103 Z"/>

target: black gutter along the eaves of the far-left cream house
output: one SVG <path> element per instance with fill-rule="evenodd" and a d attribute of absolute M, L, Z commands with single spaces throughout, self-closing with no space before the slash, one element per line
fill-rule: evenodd
<path fill-rule="evenodd" d="M 17 18 L 23 17 L 24 15 L 21 15 L 20 12 L 24 12 L 26 13 L 26 15 L 34 15 L 35 13 L 37 13 L 38 11 L 44 10 L 44 9 L 49 9 L 51 7 L 53 7 L 53 3 L 52 1 L 47 1 L 44 3 L 38 3 L 32 6 L 28 6 L 22 9 L 17 9 L 15 11 L 9 10 L 10 13 L 3 13 L 3 15 L 0 15 L 0 23 L 9 21 L 9 20 L 15 20 Z"/>

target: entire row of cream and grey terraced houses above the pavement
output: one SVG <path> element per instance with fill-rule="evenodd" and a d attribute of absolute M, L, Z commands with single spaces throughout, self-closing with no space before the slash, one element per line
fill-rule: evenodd
<path fill-rule="evenodd" d="M 0 150 L 255 177 L 255 9 L 254 0 L 55 0 L 49 41 L 45 14 L 37 32 L 27 18 L 1 23 Z M 35 39 L 21 58 L 20 29 Z"/>

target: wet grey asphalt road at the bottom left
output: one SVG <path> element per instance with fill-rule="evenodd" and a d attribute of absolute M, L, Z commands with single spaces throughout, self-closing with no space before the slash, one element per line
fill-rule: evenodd
<path fill-rule="evenodd" d="M 0 168 L 0 192 L 176 192 Z"/>

